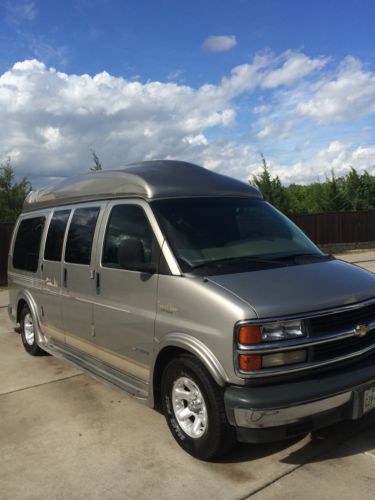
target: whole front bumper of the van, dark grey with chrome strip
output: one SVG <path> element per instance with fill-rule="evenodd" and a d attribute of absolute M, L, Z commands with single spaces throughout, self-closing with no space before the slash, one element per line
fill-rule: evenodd
<path fill-rule="evenodd" d="M 362 417 L 375 404 L 374 387 L 375 363 L 371 357 L 308 379 L 256 387 L 229 386 L 224 401 L 239 441 L 267 442 Z"/>

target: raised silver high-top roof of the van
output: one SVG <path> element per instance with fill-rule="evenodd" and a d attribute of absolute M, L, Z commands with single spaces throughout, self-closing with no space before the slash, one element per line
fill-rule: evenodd
<path fill-rule="evenodd" d="M 25 200 L 24 211 L 111 198 L 154 200 L 202 196 L 262 198 L 256 188 L 198 165 L 154 160 L 119 170 L 69 177 L 53 186 L 31 191 Z"/>

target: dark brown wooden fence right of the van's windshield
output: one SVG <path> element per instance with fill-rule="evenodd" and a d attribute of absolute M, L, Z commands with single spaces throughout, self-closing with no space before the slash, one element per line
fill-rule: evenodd
<path fill-rule="evenodd" d="M 296 215 L 291 219 L 318 245 L 375 242 L 375 211 Z"/>

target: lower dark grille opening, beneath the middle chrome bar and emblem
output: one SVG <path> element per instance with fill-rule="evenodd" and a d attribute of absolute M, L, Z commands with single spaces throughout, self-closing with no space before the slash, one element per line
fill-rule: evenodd
<path fill-rule="evenodd" d="M 316 345 L 313 348 L 314 361 L 327 361 L 346 356 L 347 354 L 366 349 L 366 347 L 371 347 L 373 344 L 375 344 L 375 329 L 370 331 L 365 337 L 349 337 Z"/>

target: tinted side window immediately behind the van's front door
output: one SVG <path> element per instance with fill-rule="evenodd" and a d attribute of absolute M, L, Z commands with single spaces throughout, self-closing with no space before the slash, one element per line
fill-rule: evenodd
<path fill-rule="evenodd" d="M 65 261 L 90 265 L 99 207 L 78 208 L 74 211 L 66 242 Z"/>

